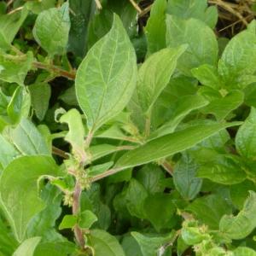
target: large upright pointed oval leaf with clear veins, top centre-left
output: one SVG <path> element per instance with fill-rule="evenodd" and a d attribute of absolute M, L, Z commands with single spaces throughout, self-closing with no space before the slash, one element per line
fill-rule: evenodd
<path fill-rule="evenodd" d="M 136 86 L 136 55 L 117 15 L 113 27 L 88 52 L 79 66 L 75 86 L 90 130 L 120 113 Z"/>

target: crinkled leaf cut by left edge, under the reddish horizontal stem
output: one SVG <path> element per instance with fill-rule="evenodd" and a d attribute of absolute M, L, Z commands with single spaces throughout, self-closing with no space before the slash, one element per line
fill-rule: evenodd
<path fill-rule="evenodd" d="M 0 80 L 24 85 L 26 74 L 32 68 L 33 55 L 8 55 L 0 51 Z"/>

